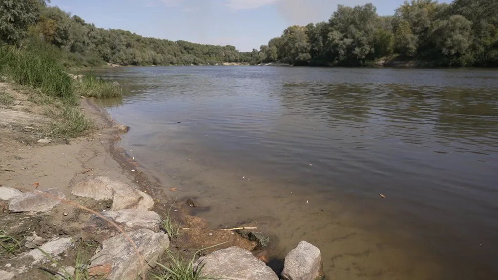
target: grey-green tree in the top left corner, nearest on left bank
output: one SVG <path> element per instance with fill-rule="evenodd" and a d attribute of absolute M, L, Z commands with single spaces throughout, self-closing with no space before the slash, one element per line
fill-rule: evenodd
<path fill-rule="evenodd" d="M 0 0 L 0 41 L 18 45 L 38 20 L 44 0 Z"/>

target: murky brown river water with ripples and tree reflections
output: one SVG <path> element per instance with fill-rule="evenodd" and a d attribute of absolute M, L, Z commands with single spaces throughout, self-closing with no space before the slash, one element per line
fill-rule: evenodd
<path fill-rule="evenodd" d="M 316 244 L 329 279 L 498 279 L 497 71 L 103 74 L 122 145 L 211 226 L 259 220 L 277 258 Z"/>

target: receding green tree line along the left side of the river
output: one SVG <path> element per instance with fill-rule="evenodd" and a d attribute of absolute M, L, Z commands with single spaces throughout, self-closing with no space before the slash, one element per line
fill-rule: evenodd
<path fill-rule="evenodd" d="M 90 65 L 104 61 L 121 65 L 216 65 L 252 60 L 251 52 L 239 52 L 234 46 L 173 42 L 98 28 L 46 2 L 0 0 L 0 41 L 13 45 L 48 43 L 67 59 Z"/>

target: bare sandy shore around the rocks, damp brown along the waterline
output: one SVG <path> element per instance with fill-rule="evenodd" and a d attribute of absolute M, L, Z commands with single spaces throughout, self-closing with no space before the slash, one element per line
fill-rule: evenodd
<path fill-rule="evenodd" d="M 41 137 L 38 129 L 53 121 L 47 119 L 44 108 L 29 101 L 27 95 L 18 91 L 16 86 L 0 84 L 0 90 L 9 92 L 15 99 L 10 106 L 0 106 L 0 187 L 15 188 L 24 193 L 58 188 L 66 199 L 100 212 L 110 210 L 112 201 L 76 197 L 71 194 L 71 190 L 87 176 L 105 176 L 151 195 L 154 199 L 151 210 L 161 218 L 172 207 L 170 216 L 181 225 L 179 236 L 171 238 L 169 250 L 175 254 L 191 258 L 197 250 L 223 242 L 226 242 L 223 246 L 204 253 L 230 246 L 254 249 L 255 242 L 232 231 L 212 231 L 204 219 L 190 216 L 194 208 L 189 206 L 190 202 L 186 203 L 188 197 L 168 198 L 164 190 L 171 191 L 173 186 L 147 176 L 146 170 L 127 156 L 127 152 L 119 146 L 120 135 L 125 132 L 91 99 L 82 98 L 80 109 L 93 120 L 92 131 L 76 139 L 50 139 Z M 92 214 L 79 207 L 59 203 L 44 213 L 13 213 L 8 210 L 7 201 L 0 200 L 0 208 L 0 226 L 19 240 L 24 240 L 33 232 L 45 240 L 57 237 L 78 240 L 79 246 L 66 251 L 59 260 L 61 265 L 74 266 L 79 253 L 87 259 L 91 258 L 100 246 L 92 233 L 83 230 L 83 225 Z M 4 267 L 18 265 L 14 261 L 16 256 L 22 256 L 29 250 L 21 246 L 13 254 L 1 252 L 0 272 Z M 257 253 L 264 256 L 261 252 Z M 49 265 L 46 264 L 47 268 Z M 48 278 L 41 270 L 33 268 L 15 279 Z"/>

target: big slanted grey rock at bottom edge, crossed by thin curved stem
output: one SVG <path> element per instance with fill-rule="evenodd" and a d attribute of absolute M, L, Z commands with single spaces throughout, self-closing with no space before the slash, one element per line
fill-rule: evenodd
<path fill-rule="evenodd" d="M 169 248 L 168 235 L 162 232 L 155 233 L 149 229 L 139 229 L 128 232 L 127 235 L 142 256 L 145 269 L 154 266 L 159 255 Z M 104 241 L 102 250 L 92 258 L 90 267 L 107 265 L 111 265 L 111 272 L 107 279 L 135 280 L 141 273 L 135 250 L 123 234 Z"/>

